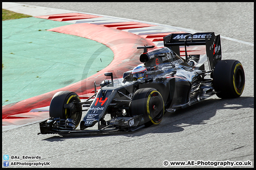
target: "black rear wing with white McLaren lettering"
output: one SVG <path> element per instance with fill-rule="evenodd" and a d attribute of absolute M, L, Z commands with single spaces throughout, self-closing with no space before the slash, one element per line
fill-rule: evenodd
<path fill-rule="evenodd" d="M 188 35 L 188 36 L 187 36 Z M 186 37 L 186 38 L 185 38 Z M 180 56 L 180 46 L 205 45 L 206 55 L 210 69 L 214 69 L 216 63 L 221 60 L 220 35 L 209 33 L 177 33 L 164 36 L 164 46 L 168 47 Z"/>

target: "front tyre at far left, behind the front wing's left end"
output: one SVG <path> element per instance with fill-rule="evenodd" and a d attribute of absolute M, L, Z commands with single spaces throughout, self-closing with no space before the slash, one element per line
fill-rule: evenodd
<path fill-rule="evenodd" d="M 49 115 L 51 118 L 73 119 L 75 127 L 80 123 L 82 117 L 82 106 L 75 108 L 72 112 L 70 109 L 64 108 L 64 104 L 81 102 L 79 96 L 71 91 L 57 92 L 50 102 Z"/>

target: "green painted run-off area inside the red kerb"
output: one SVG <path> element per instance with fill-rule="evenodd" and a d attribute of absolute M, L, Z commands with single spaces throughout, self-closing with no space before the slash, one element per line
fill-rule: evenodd
<path fill-rule="evenodd" d="M 34 17 L 2 21 L 2 106 L 76 83 L 111 63 L 107 46 L 47 31 L 68 24 Z"/>

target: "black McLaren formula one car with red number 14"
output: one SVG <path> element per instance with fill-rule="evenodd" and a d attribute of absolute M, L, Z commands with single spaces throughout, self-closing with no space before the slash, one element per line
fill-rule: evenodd
<path fill-rule="evenodd" d="M 187 55 L 187 46 L 194 45 L 206 46 L 208 71 L 203 63 L 198 64 L 200 55 Z M 180 57 L 180 46 L 185 47 L 186 58 Z M 74 92 L 57 92 L 50 102 L 50 118 L 39 124 L 39 134 L 135 131 L 159 124 L 165 112 L 215 94 L 220 98 L 241 96 L 244 69 L 237 60 L 222 60 L 220 35 L 170 34 L 164 37 L 164 47 L 153 48 L 138 46 L 144 49 L 139 58 L 142 64 L 118 79 L 105 73 L 111 80 L 103 80 L 100 90 L 86 101 L 81 102 Z M 80 121 L 83 111 L 87 112 Z M 96 124 L 97 129 L 90 129 Z"/>

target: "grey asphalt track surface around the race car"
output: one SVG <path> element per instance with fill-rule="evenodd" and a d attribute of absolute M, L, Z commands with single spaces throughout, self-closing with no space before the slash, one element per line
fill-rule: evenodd
<path fill-rule="evenodd" d="M 37 135 L 38 124 L 4 131 L 3 155 L 39 155 L 42 157 L 40 162 L 50 162 L 51 168 L 214 167 L 164 166 L 165 160 L 250 160 L 252 166 L 247 167 L 254 167 L 253 3 L 22 4 L 116 16 L 205 32 L 213 31 L 221 37 L 226 37 L 221 39 L 222 59 L 235 59 L 242 63 L 246 84 L 239 98 L 221 100 L 213 96 L 175 114 L 167 113 L 161 124 L 136 132 Z M 38 162 L 31 159 L 26 161 Z"/>

